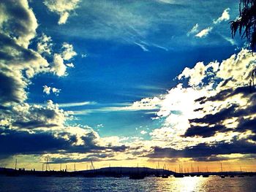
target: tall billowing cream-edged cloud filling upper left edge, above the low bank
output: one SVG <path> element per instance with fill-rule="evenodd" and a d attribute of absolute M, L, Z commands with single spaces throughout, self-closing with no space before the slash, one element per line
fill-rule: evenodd
<path fill-rule="evenodd" d="M 28 48 L 37 28 L 37 19 L 28 1 L 15 1 L 15 4 L 2 1 L 0 7 L 0 43 L 1 52 L 5 55 L 0 61 L 0 101 L 9 105 L 27 99 L 25 88 L 31 77 L 47 72 L 49 64 L 39 53 Z M 13 12 L 16 9 L 26 17 L 18 17 L 18 12 Z"/>

